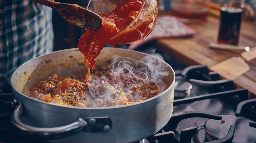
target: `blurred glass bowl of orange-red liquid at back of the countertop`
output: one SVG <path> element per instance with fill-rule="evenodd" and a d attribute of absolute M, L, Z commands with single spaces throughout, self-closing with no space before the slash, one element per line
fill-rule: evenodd
<path fill-rule="evenodd" d="M 171 12 L 183 19 L 204 19 L 209 12 L 210 0 L 171 0 Z"/>

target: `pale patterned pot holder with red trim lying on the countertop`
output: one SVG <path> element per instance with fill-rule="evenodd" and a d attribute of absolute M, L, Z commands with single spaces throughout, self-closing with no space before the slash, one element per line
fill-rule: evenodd
<path fill-rule="evenodd" d="M 131 43 L 128 49 L 136 49 L 140 45 L 157 38 L 186 37 L 195 34 L 196 31 L 185 25 L 180 18 L 171 15 L 160 15 L 151 33 L 144 39 Z"/>

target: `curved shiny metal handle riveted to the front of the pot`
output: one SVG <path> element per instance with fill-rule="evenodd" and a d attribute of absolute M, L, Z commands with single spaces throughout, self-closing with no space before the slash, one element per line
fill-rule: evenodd
<path fill-rule="evenodd" d="M 22 103 L 16 106 L 12 113 L 11 122 L 17 127 L 18 131 L 24 135 L 31 135 L 36 138 L 43 138 L 46 140 L 64 138 L 74 135 L 80 131 L 83 132 L 109 132 L 112 122 L 108 117 L 86 117 L 79 118 L 77 121 L 53 128 L 39 128 L 32 127 L 23 123 L 20 118 L 23 113 Z"/>

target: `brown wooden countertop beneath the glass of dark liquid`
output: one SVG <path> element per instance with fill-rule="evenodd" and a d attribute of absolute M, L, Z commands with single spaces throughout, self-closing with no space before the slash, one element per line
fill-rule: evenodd
<path fill-rule="evenodd" d="M 256 49 L 249 52 L 212 49 L 216 42 L 219 18 L 209 15 L 204 20 L 184 22 L 197 31 L 185 38 L 157 39 L 156 46 L 187 66 L 203 64 L 210 71 L 220 72 L 223 79 L 234 81 L 235 87 L 249 90 L 249 98 L 256 98 Z M 256 23 L 242 21 L 238 45 L 256 46 Z"/>

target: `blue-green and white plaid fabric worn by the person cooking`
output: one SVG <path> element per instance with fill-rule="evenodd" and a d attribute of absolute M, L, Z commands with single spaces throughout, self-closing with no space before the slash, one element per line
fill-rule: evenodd
<path fill-rule="evenodd" d="M 0 0 L 0 88 L 18 66 L 52 50 L 52 8 L 31 0 Z"/>

